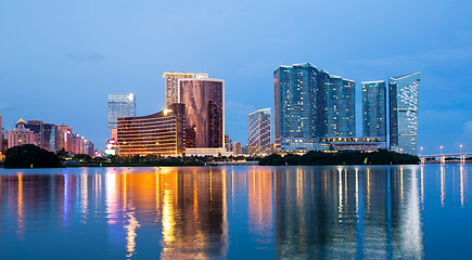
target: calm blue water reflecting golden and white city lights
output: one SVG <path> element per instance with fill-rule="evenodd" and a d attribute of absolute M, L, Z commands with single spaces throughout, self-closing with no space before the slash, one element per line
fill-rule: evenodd
<path fill-rule="evenodd" d="M 470 259 L 471 171 L 0 169 L 0 258 Z"/>

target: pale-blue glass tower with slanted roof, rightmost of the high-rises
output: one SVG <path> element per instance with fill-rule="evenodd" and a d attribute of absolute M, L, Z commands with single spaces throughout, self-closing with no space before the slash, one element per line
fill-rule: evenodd
<path fill-rule="evenodd" d="M 390 147 L 417 154 L 421 73 L 390 78 Z"/>

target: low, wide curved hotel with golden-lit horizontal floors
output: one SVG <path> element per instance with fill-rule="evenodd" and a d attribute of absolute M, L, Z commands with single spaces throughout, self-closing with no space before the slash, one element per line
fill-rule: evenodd
<path fill-rule="evenodd" d="M 184 148 L 184 105 L 141 117 L 118 118 L 118 155 L 182 155 Z"/>

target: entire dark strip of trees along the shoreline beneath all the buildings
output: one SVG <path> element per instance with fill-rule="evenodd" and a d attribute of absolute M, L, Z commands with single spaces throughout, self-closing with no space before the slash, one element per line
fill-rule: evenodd
<path fill-rule="evenodd" d="M 254 161 L 260 166 L 322 166 L 322 165 L 417 165 L 418 156 L 398 154 L 386 150 L 362 152 L 308 152 L 304 155 L 271 154 L 265 157 L 247 156 L 111 156 L 90 157 L 86 154 L 69 155 L 65 151 L 48 152 L 36 145 L 27 144 L 12 147 L 5 153 L 5 168 L 54 168 L 54 167 L 145 167 L 145 166 L 205 166 L 215 161 Z"/>

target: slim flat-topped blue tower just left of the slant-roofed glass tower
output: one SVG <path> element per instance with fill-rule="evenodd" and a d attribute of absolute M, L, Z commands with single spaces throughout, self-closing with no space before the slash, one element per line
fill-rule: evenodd
<path fill-rule="evenodd" d="M 362 135 L 386 142 L 385 81 L 362 82 Z"/>

